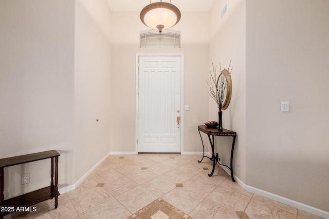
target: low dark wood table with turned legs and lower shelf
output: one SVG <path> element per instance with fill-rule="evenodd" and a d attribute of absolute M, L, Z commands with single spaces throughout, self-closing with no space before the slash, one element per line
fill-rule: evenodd
<path fill-rule="evenodd" d="M 22 156 L 13 156 L 0 159 L 0 218 L 16 211 L 17 207 L 29 207 L 34 204 L 46 201 L 48 199 L 55 199 L 55 208 L 58 206 L 58 157 L 60 154 L 56 150 L 44 151 L 39 153 L 26 154 Z M 5 190 L 5 175 L 4 168 L 19 164 L 25 164 L 34 161 L 40 161 L 50 158 L 50 186 L 32 191 L 20 196 L 4 200 Z M 54 181 L 53 181 L 54 177 Z"/>

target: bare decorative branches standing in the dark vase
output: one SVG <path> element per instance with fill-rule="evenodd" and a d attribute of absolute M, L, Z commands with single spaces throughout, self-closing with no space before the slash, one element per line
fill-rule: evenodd
<path fill-rule="evenodd" d="M 231 66 L 231 61 L 230 64 L 228 66 L 228 73 L 230 74 L 230 66 Z M 222 107 L 223 107 L 223 102 L 225 99 L 225 95 L 226 95 L 226 91 L 227 91 L 227 83 L 228 83 L 228 77 L 226 77 L 224 75 L 224 73 L 222 73 L 222 66 L 220 64 L 220 75 L 217 78 L 217 74 L 216 74 L 216 69 L 217 66 L 214 67 L 214 64 L 212 64 L 212 72 L 210 71 L 210 79 L 211 79 L 211 83 L 209 84 L 207 81 L 207 85 L 209 87 L 209 95 L 214 99 L 214 101 L 216 102 L 216 104 L 218 105 L 218 110 L 222 111 Z"/>

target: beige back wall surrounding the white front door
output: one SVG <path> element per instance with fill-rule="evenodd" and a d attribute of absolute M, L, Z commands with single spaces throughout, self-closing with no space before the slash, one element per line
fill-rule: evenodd
<path fill-rule="evenodd" d="M 200 152 L 202 144 L 197 125 L 207 121 L 208 99 L 206 90 L 208 68 L 207 12 L 182 12 L 179 24 L 173 29 L 181 31 L 181 48 L 139 48 L 139 34 L 148 29 L 139 19 L 139 12 L 113 12 L 113 75 L 111 152 L 135 152 L 136 109 L 136 54 L 184 54 L 184 152 Z M 120 22 L 119 22 L 120 21 Z M 182 109 L 181 109 L 182 110 Z"/>

